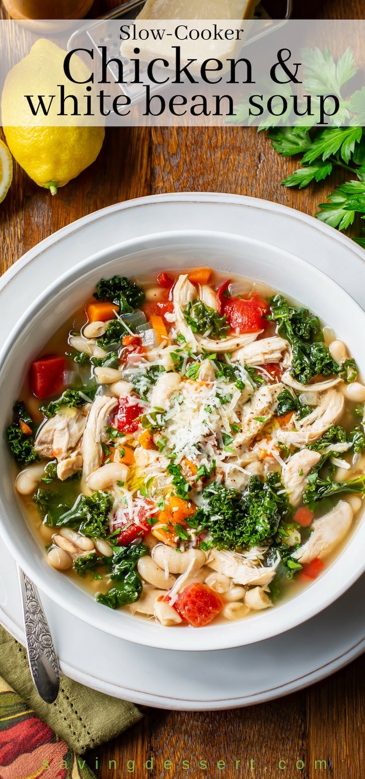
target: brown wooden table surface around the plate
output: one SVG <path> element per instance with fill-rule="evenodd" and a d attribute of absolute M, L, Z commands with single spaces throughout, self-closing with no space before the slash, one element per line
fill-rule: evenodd
<path fill-rule="evenodd" d="M 295 0 L 294 4 L 299 19 L 356 19 L 365 11 L 363 0 Z M 118 0 L 96 0 L 93 16 L 115 5 Z M 111 203 L 160 192 L 236 192 L 314 214 L 329 191 L 328 183 L 302 192 L 284 189 L 279 182 L 295 164 L 278 157 L 264 132 L 257 135 L 255 129 L 109 129 L 97 161 L 53 199 L 15 165 L 12 188 L 0 206 L 2 271 L 69 222 Z M 134 775 L 152 779 L 360 779 L 364 671 L 362 657 L 306 691 L 241 710 L 189 714 L 147 709 L 133 730 L 90 753 L 90 767 L 95 767 L 98 757 L 95 773 L 100 779 L 128 776 L 127 760 L 136 761 Z M 152 756 L 158 765 L 146 770 L 145 761 Z M 209 767 L 199 770 L 199 759 L 206 756 Z M 171 770 L 163 767 L 167 759 L 172 760 Z M 238 770 L 236 759 L 242 761 Z M 253 772 L 251 759 L 256 765 Z M 315 770 L 314 761 L 321 759 L 327 760 L 327 770 Z M 109 769 L 109 760 L 115 760 L 119 769 Z M 183 760 L 190 760 L 190 770 L 183 769 Z M 218 770 L 218 760 L 226 761 L 225 770 Z M 286 761 L 286 769 L 284 763 L 282 769 L 278 767 L 279 760 Z M 303 761 L 303 770 L 296 761 Z"/>

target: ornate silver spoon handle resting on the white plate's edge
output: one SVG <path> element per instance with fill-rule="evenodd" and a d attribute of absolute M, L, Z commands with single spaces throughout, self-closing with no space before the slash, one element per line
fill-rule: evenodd
<path fill-rule="evenodd" d="M 59 690 L 59 666 L 51 631 L 37 587 L 20 568 L 18 576 L 30 673 L 41 698 L 53 703 Z"/>

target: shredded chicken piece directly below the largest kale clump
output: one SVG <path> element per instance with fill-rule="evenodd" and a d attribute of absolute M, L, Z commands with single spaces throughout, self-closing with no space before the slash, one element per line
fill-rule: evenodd
<path fill-rule="evenodd" d="M 255 566 L 245 559 L 244 555 L 236 552 L 219 552 L 218 549 L 212 549 L 207 564 L 218 573 L 224 573 L 229 576 L 235 584 L 257 584 L 260 587 L 267 587 L 274 579 L 276 566 L 265 568 L 264 566 Z"/>

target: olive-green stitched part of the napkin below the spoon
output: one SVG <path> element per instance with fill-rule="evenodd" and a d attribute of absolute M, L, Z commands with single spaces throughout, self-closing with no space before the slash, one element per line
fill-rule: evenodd
<path fill-rule="evenodd" d="M 80 755 L 115 738 L 142 717 L 134 703 L 97 693 L 63 675 L 55 703 L 44 703 L 34 687 L 26 650 L 2 626 L 0 676 Z"/>

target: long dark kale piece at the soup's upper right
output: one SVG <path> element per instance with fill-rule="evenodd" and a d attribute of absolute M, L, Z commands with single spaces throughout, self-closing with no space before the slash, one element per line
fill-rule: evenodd
<path fill-rule="evenodd" d="M 356 378 L 353 359 L 339 365 L 331 358 L 328 347 L 323 343 L 320 321 L 307 308 L 290 305 L 281 294 L 277 294 L 271 300 L 271 315 L 278 323 L 279 335 L 292 347 L 290 373 L 301 384 L 308 384 L 318 374 L 340 375 L 346 382 Z"/>

